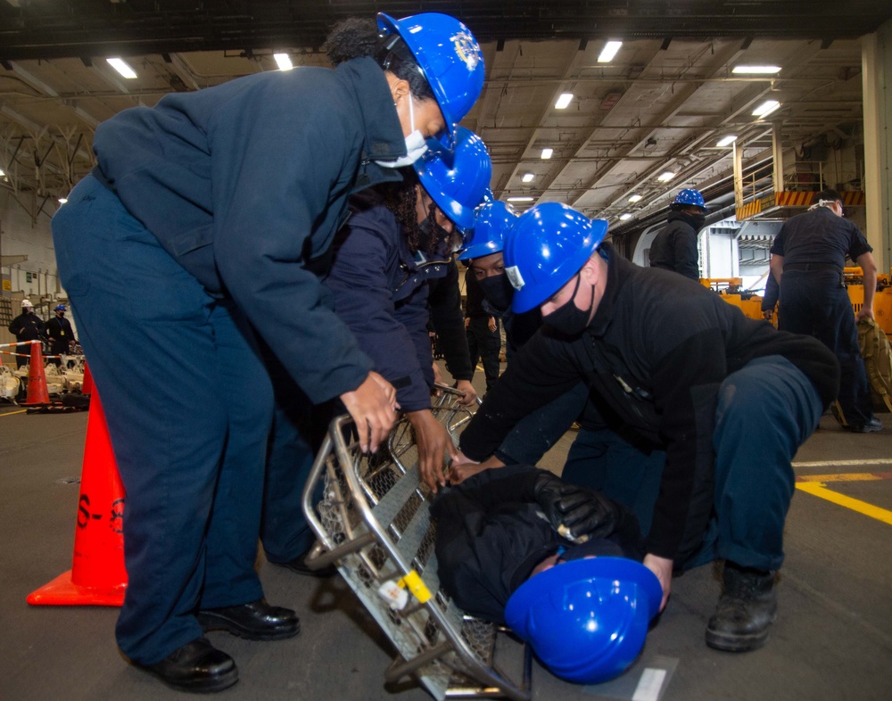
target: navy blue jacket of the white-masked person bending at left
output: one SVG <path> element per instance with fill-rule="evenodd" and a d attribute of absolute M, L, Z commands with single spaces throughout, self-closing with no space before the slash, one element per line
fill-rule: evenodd
<path fill-rule="evenodd" d="M 376 62 L 165 95 L 103 122 L 94 150 L 97 177 L 209 293 L 244 309 L 310 400 L 359 386 L 371 361 L 319 276 L 348 196 L 400 177 L 371 162 L 406 153 Z"/>

